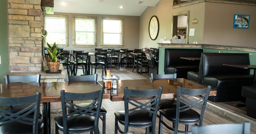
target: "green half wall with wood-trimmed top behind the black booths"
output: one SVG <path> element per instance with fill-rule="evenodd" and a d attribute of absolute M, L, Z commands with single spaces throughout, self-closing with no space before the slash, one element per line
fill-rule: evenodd
<path fill-rule="evenodd" d="M 166 47 L 159 47 L 159 68 L 158 74 L 164 74 L 164 49 Z M 201 48 L 199 48 L 201 49 Z M 220 50 L 220 53 L 249 53 L 250 64 L 256 65 L 256 53 L 253 52 L 244 52 L 244 51 L 232 51 L 232 50 L 223 50 L 223 49 L 212 49 L 212 48 L 203 48 L 205 53 L 217 53 Z M 253 70 L 250 71 L 253 74 Z"/>

